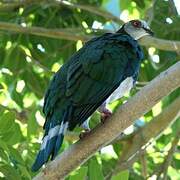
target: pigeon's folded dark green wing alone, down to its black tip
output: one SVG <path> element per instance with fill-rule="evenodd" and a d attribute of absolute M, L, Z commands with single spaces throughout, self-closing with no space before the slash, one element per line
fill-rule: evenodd
<path fill-rule="evenodd" d="M 124 39 L 123 39 L 124 40 Z M 136 59 L 128 41 L 89 42 L 71 60 L 66 97 L 74 106 L 69 129 L 85 121 L 120 85 L 130 59 Z"/>

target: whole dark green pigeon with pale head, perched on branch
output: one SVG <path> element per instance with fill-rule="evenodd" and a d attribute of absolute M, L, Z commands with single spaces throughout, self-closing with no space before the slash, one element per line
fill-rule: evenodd
<path fill-rule="evenodd" d="M 55 73 L 44 98 L 44 136 L 32 171 L 57 156 L 67 130 L 89 130 L 96 110 L 102 119 L 112 114 L 107 105 L 129 92 L 138 78 L 143 52 L 137 40 L 147 35 L 153 32 L 145 21 L 131 20 L 115 33 L 86 42 Z"/>

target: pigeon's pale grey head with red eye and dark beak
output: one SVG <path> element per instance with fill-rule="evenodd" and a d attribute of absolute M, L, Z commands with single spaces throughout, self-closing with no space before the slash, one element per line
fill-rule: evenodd
<path fill-rule="evenodd" d="M 117 33 L 127 33 L 135 40 L 142 38 L 143 36 L 153 35 L 150 27 L 143 20 L 132 20 L 125 23 Z"/>

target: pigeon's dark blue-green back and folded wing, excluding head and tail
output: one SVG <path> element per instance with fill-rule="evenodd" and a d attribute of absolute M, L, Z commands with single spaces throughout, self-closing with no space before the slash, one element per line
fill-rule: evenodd
<path fill-rule="evenodd" d="M 62 108 L 72 104 L 69 129 L 85 121 L 129 76 L 130 59 L 138 59 L 133 43 L 136 46 L 129 36 L 117 34 L 105 34 L 86 43 L 53 78 L 45 98 L 46 116 L 57 104 Z"/>

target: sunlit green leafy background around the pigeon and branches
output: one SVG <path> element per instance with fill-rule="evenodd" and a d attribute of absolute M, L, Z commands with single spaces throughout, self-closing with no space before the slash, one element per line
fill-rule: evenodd
<path fill-rule="evenodd" d="M 89 12 L 81 8 L 58 4 L 57 1 L 0 1 L 0 21 L 38 26 L 52 29 L 66 29 L 78 35 L 99 35 L 120 27 L 116 20 L 93 13 L 107 10 L 122 20 L 146 19 L 162 39 L 180 40 L 180 16 L 173 1 L 163 0 L 71 0 L 76 4 L 94 9 Z M 58 68 L 81 46 L 83 42 L 59 40 L 30 34 L 0 31 L 0 178 L 8 180 L 32 179 L 36 173 L 30 168 L 40 147 L 43 135 L 43 96 L 48 83 Z M 142 86 L 178 61 L 179 52 L 162 51 L 154 47 L 143 48 L 145 60 L 137 87 L 125 98 L 113 103 L 115 110 L 120 104 L 137 92 Z M 176 90 L 159 102 L 149 113 L 136 122 L 128 133 L 139 131 L 140 126 L 157 116 L 180 95 Z M 94 114 L 91 127 L 99 122 Z M 135 128 L 136 127 L 136 128 Z M 157 177 L 156 170 L 163 163 L 171 141 L 176 136 L 180 123 L 176 120 L 163 131 L 157 140 L 148 146 L 146 152 L 126 170 L 109 176 L 121 157 L 124 142 L 118 141 L 97 152 L 84 165 L 74 170 L 68 180 L 113 180 L 150 179 Z M 74 143 L 80 129 L 68 135 L 61 151 Z M 125 135 L 125 139 L 126 139 Z M 180 145 L 180 144 L 179 144 Z M 180 146 L 172 155 L 168 168 L 168 179 L 180 179 Z M 144 161 L 142 161 L 142 159 Z M 145 162 L 145 164 L 143 163 Z M 144 167 L 145 174 L 144 174 Z"/>

